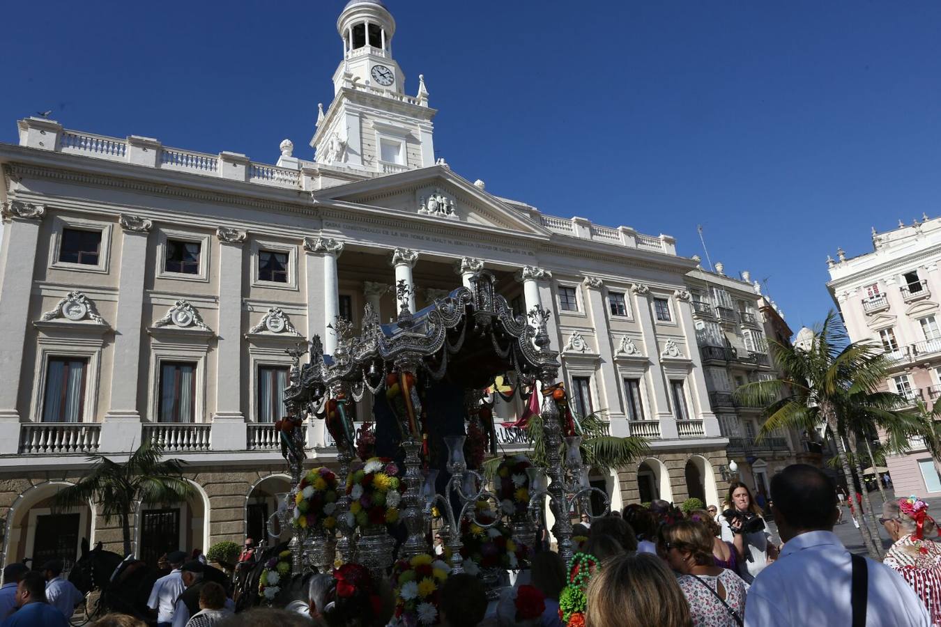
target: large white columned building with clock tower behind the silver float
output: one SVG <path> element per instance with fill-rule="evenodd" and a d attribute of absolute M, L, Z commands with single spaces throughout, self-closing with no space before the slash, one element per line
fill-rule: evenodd
<path fill-rule="evenodd" d="M 71 559 L 86 536 L 116 546 L 116 523 L 90 508 L 54 513 L 49 498 L 89 452 L 120 457 L 144 438 L 187 462 L 196 495 L 140 505 L 140 556 L 258 535 L 287 488 L 272 425 L 285 349 L 320 335 L 329 353 L 338 314 L 359 324 L 366 303 L 394 314 L 394 281 L 423 306 L 480 267 L 515 306 L 552 311 L 577 409 L 604 413 L 615 435 L 650 438 L 647 460 L 595 478 L 615 507 L 642 486 L 717 502 L 727 439 L 685 287 L 695 261 L 667 235 L 546 214 L 435 163 L 436 111 L 421 77 L 405 93 L 391 14 L 353 0 L 338 32 L 312 159 L 286 140 L 278 165 L 263 165 L 43 118 L 19 121 L 19 145 L 0 144 L 5 563 Z M 370 415 L 368 401 L 357 412 Z M 517 434 L 498 436 L 520 447 Z M 322 423 L 308 445 L 311 463 L 335 460 Z"/>

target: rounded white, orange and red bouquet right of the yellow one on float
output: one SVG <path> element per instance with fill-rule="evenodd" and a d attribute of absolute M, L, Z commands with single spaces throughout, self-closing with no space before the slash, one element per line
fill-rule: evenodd
<path fill-rule="evenodd" d="M 350 510 L 346 524 L 353 528 L 391 524 L 399 519 L 399 466 L 387 457 L 372 457 L 358 464 L 346 479 Z"/>

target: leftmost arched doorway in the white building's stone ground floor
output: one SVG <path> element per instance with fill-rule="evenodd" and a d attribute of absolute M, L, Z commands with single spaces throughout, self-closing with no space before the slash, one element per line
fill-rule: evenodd
<path fill-rule="evenodd" d="M 72 483 L 47 481 L 20 494 L 8 512 L 4 565 L 30 557 L 34 567 L 61 559 L 67 571 L 78 558 L 82 540 L 94 541 L 95 515 L 90 505 L 53 509 L 53 497 Z"/>

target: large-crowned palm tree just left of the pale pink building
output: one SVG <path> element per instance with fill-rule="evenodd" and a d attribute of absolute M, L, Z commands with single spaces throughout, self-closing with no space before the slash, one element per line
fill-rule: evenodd
<path fill-rule="evenodd" d="M 803 340 L 803 341 L 802 341 Z M 796 346 L 778 341 L 771 342 L 775 363 L 781 373 L 771 381 L 744 384 L 735 391 L 737 399 L 764 406 L 768 419 L 762 425 L 759 437 L 771 431 L 796 427 L 813 428 L 821 423 L 837 445 L 837 456 L 843 477 L 853 486 L 853 472 L 844 437 L 849 436 L 851 452 L 858 460 L 855 435 L 859 432 L 854 419 L 869 416 L 887 420 L 896 416 L 889 408 L 893 401 L 889 393 L 872 397 L 885 381 L 889 366 L 880 347 L 869 342 L 851 342 L 846 330 L 832 310 L 812 337 L 798 337 Z M 894 396 L 894 395 L 891 395 Z M 888 406 L 883 402 L 888 403 Z M 860 469 L 861 470 L 861 469 Z M 870 513 L 871 509 L 870 509 Z M 859 516 L 858 512 L 854 516 Z M 860 534 L 869 555 L 878 559 L 878 533 L 857 518 Z"/>

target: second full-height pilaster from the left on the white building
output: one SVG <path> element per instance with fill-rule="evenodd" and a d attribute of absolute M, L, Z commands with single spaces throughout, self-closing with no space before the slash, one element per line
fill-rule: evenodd
<path fill-rule="evenodd" d="M 140 369 L 141 319 L 144 308 L 144 268 L 151 221 L 121 214 L 118 314 L 115 319 L 111 404 L 104 415 L 99 449 L 104 453 L 128 451 L 140 442 L 137 381 Z M 120 382 L 120 384 L 119 384 Z"/>

